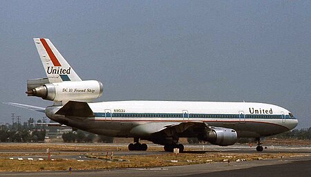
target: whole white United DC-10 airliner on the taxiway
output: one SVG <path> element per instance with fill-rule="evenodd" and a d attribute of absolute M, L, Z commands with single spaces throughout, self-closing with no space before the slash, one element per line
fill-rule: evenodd
<path fill-rule="evenodd" d="M 46 108 L 9 103 L 46 113 L 50 120 L 98 135 L 133 138 L 129 151 L 146 151 L 148 140 L 164 151 L 184 146 L 179 138 L 198 138 L 213 145 L 234 145 L 238 138 L 255 138 L 263 151 L 266 136 L 290 131 L 298 124 L 281 106 L 257 102 L 189 102 L 130 100 L 94 102 L 103 84 L 81 80 L 49 39 L 34 38 L 46 78 L 27 80 L 28 96 L 53 101 Z"/>

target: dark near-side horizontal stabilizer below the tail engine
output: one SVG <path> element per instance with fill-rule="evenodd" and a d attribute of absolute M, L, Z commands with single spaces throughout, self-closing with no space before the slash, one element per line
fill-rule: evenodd
<path fill-rule="evenodd" d="M 95 117 L 87 102 L 69 101 L 55 114 L 75 117 Z"/>

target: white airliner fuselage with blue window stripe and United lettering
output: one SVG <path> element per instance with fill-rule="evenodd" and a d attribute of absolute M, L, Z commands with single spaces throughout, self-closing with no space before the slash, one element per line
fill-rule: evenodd
<path fill-rule="evenodd" d="M 234 129 L 238 137 L 249 138 L 272 136 L 298 124 L 290 111 L 280 106 L 253 102 L 116 101 L 88 105 L 95 117 L 84 121 L 68 119 L 68 125 L 116 137 L 135 137 L 133 127 L 151 122 L 163 127 L 174 122 L 205 122 L 211 127 Z M 53 114 L 59 108 L 50 107 L 48 117 L 66 119 Z M 191 137 L 184 135 L 188 136 Z"/>

